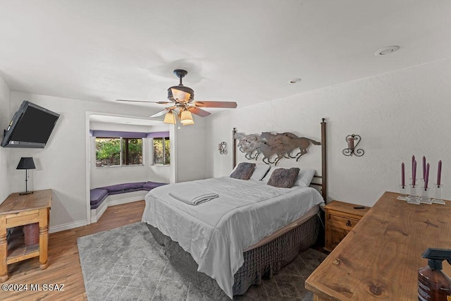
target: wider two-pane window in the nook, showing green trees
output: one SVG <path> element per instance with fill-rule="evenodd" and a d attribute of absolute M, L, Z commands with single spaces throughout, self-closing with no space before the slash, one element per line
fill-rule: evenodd
<path fill-rule="evenodd" d="M 96 166 L 142 164 L 141 138 L 96 137 Z"/>

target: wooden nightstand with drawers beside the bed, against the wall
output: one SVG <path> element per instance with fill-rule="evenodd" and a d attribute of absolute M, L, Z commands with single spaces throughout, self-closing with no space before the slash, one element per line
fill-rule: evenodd
<path fill-rule="evenodd" d="M 369 207 L 354 209 L 354 207 L 364 206 L 332 201 L 324 207 L 326 210 L 326 246 L 324 250 L 331 252 L 370 209 Z"/>

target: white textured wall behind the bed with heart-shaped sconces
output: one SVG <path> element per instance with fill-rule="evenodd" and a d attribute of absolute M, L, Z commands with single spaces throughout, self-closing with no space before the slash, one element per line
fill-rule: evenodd
<path fill-rule="evenodd" d="M 451 59 L 446 59 L 210 116 L 207 149 L 226 141 L 230 150 L 226 156 L 207 152 L 209 176 L 231 171 L 233 127 L 247 134 L 292 132 L 319 140 L 325 117 L 329 200 L 371 206 L 383 192 L 397 192 L 401 163 L 406 164 L 409 178 L 412 154 L 419 166 L 422 156 L 431 164 L 430 183 L 435 183 L 438 160 L 443 161 L 443 196 L 451 199 L 450 75 Z M 364 156 L 342 154 L 350 134 L 362 136 L 358 147 L 364 149 Z M 309 152 L 313 155 L 321 149 L 312 146 Z M 310 154 L 298 164 L 284 159 L 280 166 L 309 166 Z"/>

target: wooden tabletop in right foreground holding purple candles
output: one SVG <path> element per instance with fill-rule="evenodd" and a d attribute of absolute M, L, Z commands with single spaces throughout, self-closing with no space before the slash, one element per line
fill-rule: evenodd
<path fill-rule="evenodd" d="M 418 269 L 428 247 L 451 248 L 451 202 L 407 204 L 385 192 L 305 287 L 314 300 L 417 300 Z M 451 275 L 451 265 L 443 262 Z"/>

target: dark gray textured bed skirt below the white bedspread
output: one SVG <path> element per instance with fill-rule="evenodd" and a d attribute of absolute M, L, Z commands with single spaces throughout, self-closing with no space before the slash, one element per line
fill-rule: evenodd
<path fill-rule="evenodd" d="M 252 250 L 244 252 L 244 264 L 235 274 L 233 295 L 244 294 L 249 286 L 260 284 L 262 278 L 271 278 L 283 266 L 292 262 L 299 252 L 307 250 L 314 245 L 318 238 L 321 221 L 316 214 L 291 231 L 279 236 Z M 158 228 L 147 224 L 156 242 L 165 247 L 165 254 L 178 269 L 180 274 L 186 276 L 196 285 L 202 293 L 214 300 L 230 300 L 219 287 L 218 283 L 204 273 L 197 271 L 197 263 L 191 254 L 185 252 L 178 242 L 161 233 Z"/>

